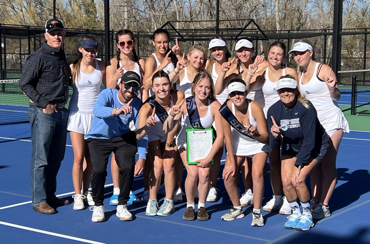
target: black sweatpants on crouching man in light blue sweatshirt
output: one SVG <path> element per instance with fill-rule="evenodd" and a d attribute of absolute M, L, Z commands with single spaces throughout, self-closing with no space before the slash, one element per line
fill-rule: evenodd
<path fill-rule="evenodd" d="M 87 144 L 92 164 L 91 188 L 92 200 L 94 200 L 95 206 L 103 205 L 107 164 L 112 152 L 120 163 L 121 178 L 118 205 L 127 204 L 134 182 L 135 154 L 137 152 L 135 132 L 130 131 L 112 139 L 88 138 Z"/>

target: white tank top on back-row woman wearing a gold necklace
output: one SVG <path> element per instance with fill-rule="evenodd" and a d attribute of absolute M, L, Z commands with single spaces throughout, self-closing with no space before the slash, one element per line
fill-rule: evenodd
<path fill-rule="evenodd" d="M 285 75 L 285 68 L 283 68 L 282 76 Z M 265 113 L 265 118 L 267 118 L 267 111 L 269 108 L 280 100 L 279 94 L 276 91 L 277 82 L 272 82 L 269 78 L 269 67 L 266 68 L 265 81 L 262 84 L 263 97 L 265 98 L 265 107 L 263 112 Z"/>

